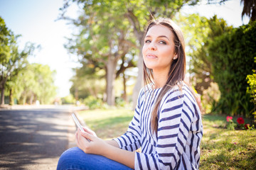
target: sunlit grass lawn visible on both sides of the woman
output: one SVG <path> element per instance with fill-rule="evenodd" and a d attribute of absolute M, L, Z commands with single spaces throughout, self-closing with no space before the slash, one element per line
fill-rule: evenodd
<path fill-rule="evenodd" d="M 81 111 L 80 117 L 98 137 L 122 135 L 132 120 L 127 109 Z M 235 118 L 233 118 L 235 120 Z M 203 115 L 200 169 L 256 169 L 256 130 L 227 130 L 225 116 Z"/>

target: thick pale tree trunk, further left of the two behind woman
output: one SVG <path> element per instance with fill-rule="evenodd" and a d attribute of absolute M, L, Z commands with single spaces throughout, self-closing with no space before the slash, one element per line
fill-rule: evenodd
<path fill-rule="evenodd" d="M 114 80 L 116 77 L 117 62 L 114 57 L 107 60 L 107 104 L 114 106 Z"/>

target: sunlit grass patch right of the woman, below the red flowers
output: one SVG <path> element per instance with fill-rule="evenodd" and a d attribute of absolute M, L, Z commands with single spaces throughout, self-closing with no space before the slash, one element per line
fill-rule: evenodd
<path fill-rule="evenodd" d="M 225 116 L 203 115 L 199 169 L 255 169 L 256 131 L 227 130 L 225 123 Z"/>

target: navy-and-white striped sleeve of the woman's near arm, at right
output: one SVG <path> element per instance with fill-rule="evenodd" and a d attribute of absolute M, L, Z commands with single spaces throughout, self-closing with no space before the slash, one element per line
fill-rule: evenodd
<path fill-rule="evenodd" d="M 137 152 L 135 169 L 176 169 L 180 164 L 195 114 L 187 97 L 176 90 L 162 99 L 158 112 L 156 153 Z"/>

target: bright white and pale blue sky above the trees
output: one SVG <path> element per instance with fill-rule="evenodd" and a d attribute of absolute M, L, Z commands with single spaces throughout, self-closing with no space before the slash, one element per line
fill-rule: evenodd
<path fill-rule="evenodd" d="M 41 50 L 35 52 L 29 62 L 48 64 L 50 69 L 56 71 L 55 86 L 58 86 L 58 96 L 68 96 L 69 81 L 73 76 L 72 68 L 78 67 L 77 57 L 68 54 L 63 47 L 70 38 L 74 28 L 66 21 L 58 20 L 59 8 L 63 7 L 63 0 L 0 0 L 0 16 L 4 18 L 7 28 L 11 29 L 18 38 L 18 45 L 22 47 L 26 42 L 41 45 Z M 229 25 L 234 27 L 248 23 L 245 17 L 242 21 L 242 6 L 240 0 L 230 0 L 225 4 L 200 6 L 184 6 L 183 13 L 199 13 L 210 18 L 214 14 L 218 18 L 224 18 Z M 76 18 L 78 8 L 72 6 L 68 10 L 68 16 Z"/>

